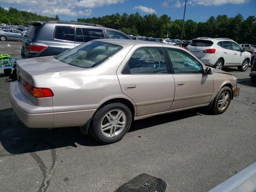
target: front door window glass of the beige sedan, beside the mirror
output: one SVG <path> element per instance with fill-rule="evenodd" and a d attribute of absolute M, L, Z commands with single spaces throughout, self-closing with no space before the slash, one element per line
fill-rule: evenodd
<path fill-rule="evenodd" d="M 202 73 L 202 65 L 191 55 L 182 50 L 167 48 L 174 73 Z"/>

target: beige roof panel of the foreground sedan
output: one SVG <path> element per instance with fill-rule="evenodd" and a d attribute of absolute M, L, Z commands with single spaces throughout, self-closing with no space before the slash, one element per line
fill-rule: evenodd
<path fill-rule="evenodd" d="M 120 45 L 122 47 L 129 47 L 129 46 L 134 46 L 134 45 L 154 45 L 155 44 L 155 45 L 162 45 L 165 47 L 177 48 L 180 50 L 184 50 L 184 48 L 180 48 L 180 47 L 168 45 L 168 44 L 162 44 L 160 42 L 154 42 L 154 41 L 129 40 L 129 39 L 96 39 L 93 41 L 112 43 L 112 44 Z"/>

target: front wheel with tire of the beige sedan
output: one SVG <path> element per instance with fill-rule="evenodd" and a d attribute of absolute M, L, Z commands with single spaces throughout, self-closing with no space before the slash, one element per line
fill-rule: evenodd
<path fill-rule="evenodd" d="M 230 102 L 232 97 L 232 90 L 229 87 L 223 87 L 220 89 L 216 97 L 214 98 L 214 102 L 210 108 L 213 114 L 222 114 L 224 113 Z"/>

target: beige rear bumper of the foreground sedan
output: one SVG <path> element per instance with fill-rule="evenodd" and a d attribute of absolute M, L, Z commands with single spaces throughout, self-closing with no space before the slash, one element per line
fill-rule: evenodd
<path fill-rule="evenodd" d="M 10 103 L 21 122 L 29 128 L 56 128 L 83 126 L 92 118 L 96 109 L 46 112 L 46 108 L 36 106 L 21 92 L 18 82 L 12 82 L 9 87 Z M 42 108 L 43 112 L 40 112 Z M 49 107 L 48 107 L 49 108 Z M 36 111 L 36 113 L 31 113 Z"/>

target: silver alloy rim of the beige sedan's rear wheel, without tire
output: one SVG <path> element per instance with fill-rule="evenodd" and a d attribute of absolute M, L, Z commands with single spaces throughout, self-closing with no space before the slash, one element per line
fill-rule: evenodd
<path fill-rule="evenodd" d="M 122 110 L 115 109 L 104 115 L 100 124 L 100 130 L 104 136 L 114 137 L 124 130 L 125 125 L 125 113 Z"/>

